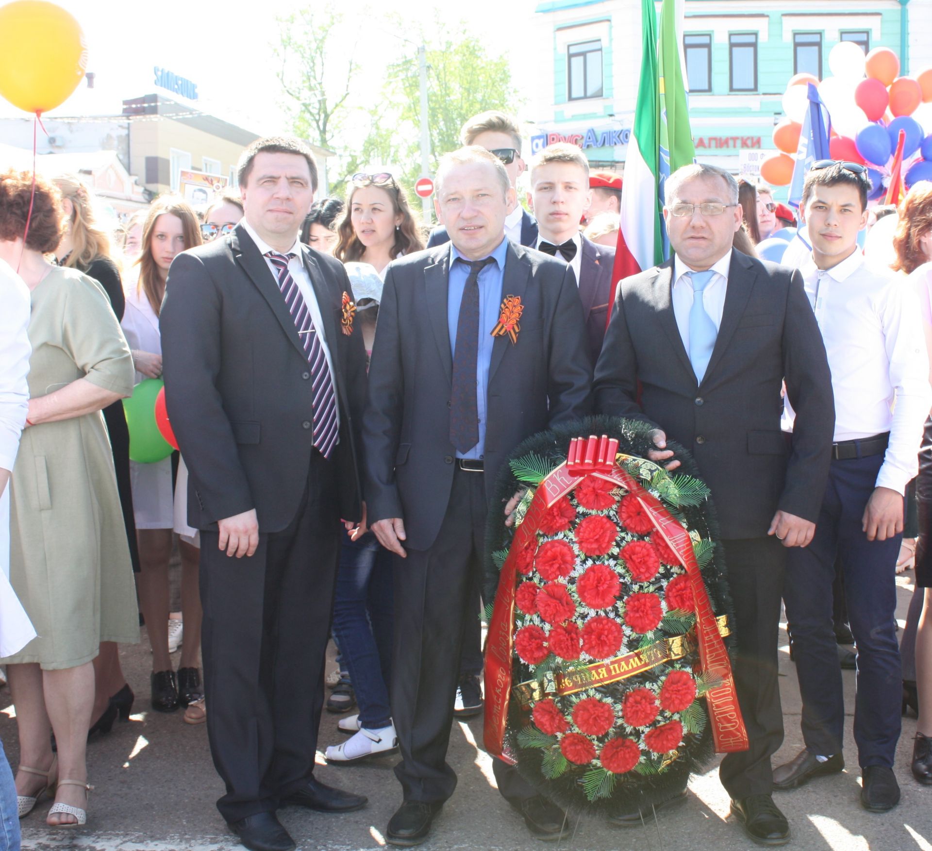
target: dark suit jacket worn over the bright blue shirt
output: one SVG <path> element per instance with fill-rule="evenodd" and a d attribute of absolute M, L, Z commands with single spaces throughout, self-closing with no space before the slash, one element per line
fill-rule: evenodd
<path fill-rule="evenodd" d="M 449 245 L 394 261 L 385 277 L 363 418 L 370 523 L 404 518 L 406 545 L 429 549 L 453 484 Z M 517 342 L 496 338 L 487 387 L 485 485 L 525 438 L 590 412 L 583 308 L 566 264 L 509 243 L 501 297 L 524 305 Z M 491 328 L 486 333 L 491 332 Z"/>

